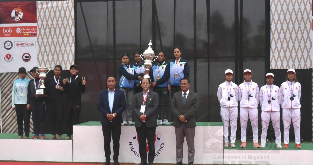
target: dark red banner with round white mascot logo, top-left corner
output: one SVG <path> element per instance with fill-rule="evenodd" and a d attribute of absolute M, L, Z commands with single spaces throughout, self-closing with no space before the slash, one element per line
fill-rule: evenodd
<path fill-rule="evenodd" d="M 36 1 L 0 2 L 0 23 L 37 23 Z"/>

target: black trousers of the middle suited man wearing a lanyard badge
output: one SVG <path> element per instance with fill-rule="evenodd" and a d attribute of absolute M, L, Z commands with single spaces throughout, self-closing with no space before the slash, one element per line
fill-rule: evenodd
<path fill-rule="evenodd" d="M 156 127 L 149 128 L 146 126 L 146 123 L 143 122 L 140 127 L 136 127 L 136 131 L 138 134 L 141 162 L 147 162 L 146 139 L 148 140 L 149 145 L 148 162 L 153 162 L 155 155 L 154 135 L 156 133 Z"/>

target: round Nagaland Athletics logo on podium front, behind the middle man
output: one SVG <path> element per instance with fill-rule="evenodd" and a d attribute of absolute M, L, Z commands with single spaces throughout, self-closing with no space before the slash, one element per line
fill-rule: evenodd
<path fill-rule="evenodd" d="M 138 144 L 138 134 L 136 132 L 133 132 L 132 135 L 129 138 L 129 148 L 130 151 L 132 152 L 132 154 L 137 157 L 138 159 L 140 159 L 140 154 L 139 154 L 139 144 Z M 156 132 L 156 134 L 154 134 L 154 148 L 155 148 L 155 155 L 154 157 L 158 157 L 161 155 L 163 149 L 164 149 L 164 145 L 165 145 L 165 138 L 163 137 L 163 135 L 159 132 Z M 146 151 L 147 154 L 149 152 L 149 145 L 148 145 L 148 141 L 146 140 Z"/>

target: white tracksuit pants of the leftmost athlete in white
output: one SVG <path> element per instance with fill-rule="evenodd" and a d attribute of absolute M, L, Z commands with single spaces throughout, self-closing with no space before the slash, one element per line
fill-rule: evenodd
<path fill-rule="evenodd" d="M 221 118 L 224 124 L 224 142 L 228 143 L 228 127 L 230 123 L 230 142 L 236 141 L 238 107 L 223 108 L 221 107 Z"/>

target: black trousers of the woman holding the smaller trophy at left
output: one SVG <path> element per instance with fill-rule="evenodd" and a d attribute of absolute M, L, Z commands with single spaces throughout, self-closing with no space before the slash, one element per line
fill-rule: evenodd
<path fill-rule="evenodd" d="M 44 119 L 45 119 L 45 102 L 29 100 L 30 110 L 32 111 L 32 119 L 34 125 L 34 133 L 44 133 Z"/>

